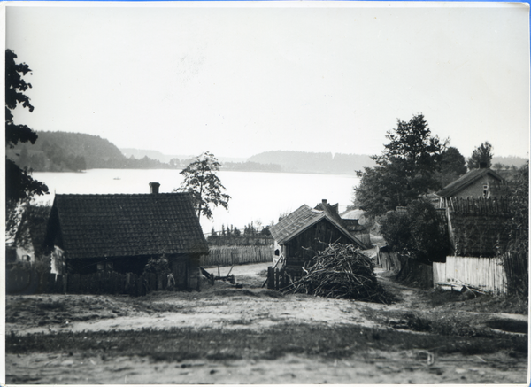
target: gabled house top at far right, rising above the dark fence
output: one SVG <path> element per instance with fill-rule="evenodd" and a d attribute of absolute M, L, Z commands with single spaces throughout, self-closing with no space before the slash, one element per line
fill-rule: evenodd
<path fill-rule="evenodd" d="M 437 192 L 441 206 L 445 206 L 449 197 L 499 197 L 505 194 L 504 178 L 492 169 L 481 167 L 463 174 Z"/>

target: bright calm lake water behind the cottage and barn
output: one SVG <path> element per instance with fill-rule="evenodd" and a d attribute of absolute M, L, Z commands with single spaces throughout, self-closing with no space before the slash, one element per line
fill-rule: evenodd
<path fill-rule="evenodd" d="M 58 194 L 118 194 L 149 193 L 149 182 L 159 182 L 160 192 L 172 192 L 181 185 L 180 170 L 168 169 L 90 169 L 84 173 L 34 173 L 35 179 L 44 182 L 50 195 L 39 197 L 39 202 L 53 202 Z M 301 205 L 315 206 L 322 199 L 340 212 L 352 201 L 352 188 L 359 179 L 352 175 L 335 174 L 276 174 L 266 172 L 220 171 L 219 179 L 225 185 L 229 201 L 228 211 L 218 207 L 213 220 L 201 217 L 205 234 L 212 227 L 234 225 L 241 230 L 250 221 L 266 226 L 278 221 L 281 213 L 290 213 Z"/>

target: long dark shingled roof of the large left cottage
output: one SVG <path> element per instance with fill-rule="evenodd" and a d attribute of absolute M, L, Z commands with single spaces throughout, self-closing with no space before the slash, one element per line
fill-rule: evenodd
<path fill-rule="evenodd" d="M 57 233 L 69 259 L 209 251 L 188 193 L 56 195 Z"/>

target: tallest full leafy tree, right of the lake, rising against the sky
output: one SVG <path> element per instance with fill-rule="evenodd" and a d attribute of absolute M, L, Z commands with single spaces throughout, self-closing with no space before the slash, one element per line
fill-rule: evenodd
<path fill-rule="evenodd" d="M 354 204 L 370 216 L 408 205 L 430 190 L 441 188 L 435 173 L 448 141 L 442 143 L 438 136 L 431 135 L 422 114 L 409 122 L 398 120 L 386 137 L 389 143 L 381 156 L 372 156 L 376 166 L 357 172 L 361 181 L 355 188 Z"/>

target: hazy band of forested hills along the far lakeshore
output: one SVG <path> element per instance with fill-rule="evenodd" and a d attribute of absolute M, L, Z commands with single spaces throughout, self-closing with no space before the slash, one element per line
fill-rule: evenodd
<path fill-rule="evenodd" d="M 190 156 L 179 159 L 159 151 L 120 151 L 97 135 L 71 132 L 37 132 L 37 135 L 35 144 L 18 143 L 13 149 L 6 149 L 19 166 L 35 172 L 77 172 L 95 168 L 181 169 L 194 161 Z M 355 174 L 365 166 L 374 166 L 368 155 L 305 151 L 266 151 L 242 162 L 222 157 L 219 160 L 221 170 L 242 172 Z M 525 162 L 526 159 L 518 157 L 494 157 L 492 167 L 504 169 L 522 166 Z"/>

